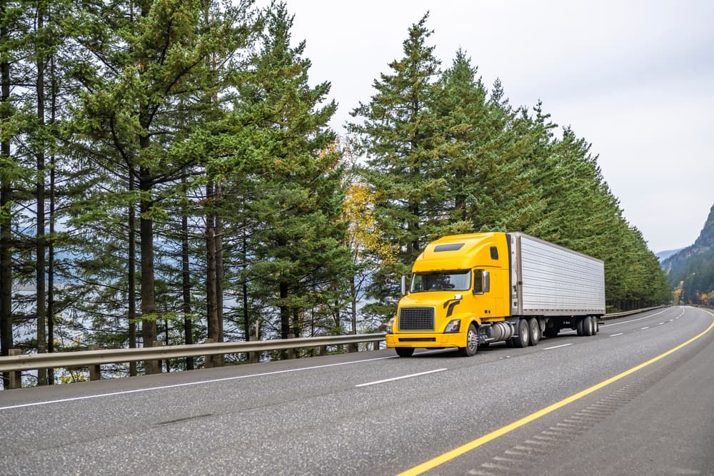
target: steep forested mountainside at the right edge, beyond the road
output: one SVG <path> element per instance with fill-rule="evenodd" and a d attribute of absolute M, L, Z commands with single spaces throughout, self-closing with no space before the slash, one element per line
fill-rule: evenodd
<path fill-rule="evenodd" d="M 662 268 L 680 303 L 714 305 L 714 206 L 694 244 L 665 258 Z"/>

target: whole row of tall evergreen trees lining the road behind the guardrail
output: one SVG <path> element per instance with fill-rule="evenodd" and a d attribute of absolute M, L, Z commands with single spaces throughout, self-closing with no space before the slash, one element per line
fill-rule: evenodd
<path fill-rule="evenodd" d="M 286 4 L 0 0 L 0 22 L 2 355 L 371 332 L 426 243 L 472 231 L 604 260 L 610 311 L 670 300 L 590 143 L 468 52 L 442 66 L 428 14 L 344 133 Z"/>

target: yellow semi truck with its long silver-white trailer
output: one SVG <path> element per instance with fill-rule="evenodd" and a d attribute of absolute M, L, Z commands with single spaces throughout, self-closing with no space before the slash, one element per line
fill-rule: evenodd
<path fill-rule="evenodd" d="M 526 347 L 563 328 L 598 333 L 605 314 L 603 261 L 524 233 L 445 236 L 426 246 L 402 278 L 388 348 L 458 348 L 506 341 Z"/>

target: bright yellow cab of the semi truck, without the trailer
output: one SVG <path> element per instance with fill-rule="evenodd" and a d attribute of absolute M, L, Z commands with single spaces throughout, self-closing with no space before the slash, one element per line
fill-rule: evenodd
<path fill-rule="evenodd" d="M 476 353 L 478 328 L 510 314 L 509 257 L 506 233 L 446 236 L 429 243 L 387 325 L 387 347 L 401 356 L 415 348 Z"/>

